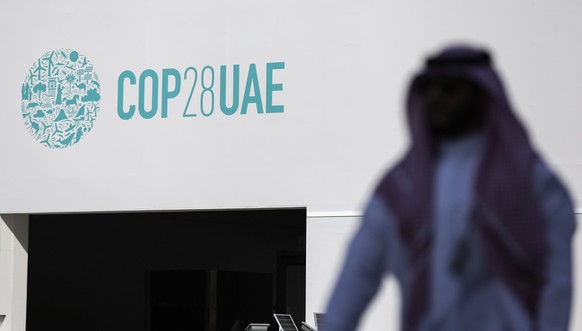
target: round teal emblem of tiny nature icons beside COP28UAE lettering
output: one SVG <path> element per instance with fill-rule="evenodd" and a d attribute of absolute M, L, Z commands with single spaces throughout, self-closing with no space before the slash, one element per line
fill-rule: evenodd
<path fill-rule="evenodd" d="M 66 148 L 93 127 L 101 99 L 97 73 L 85 55 L 47 52 L 22 84 L 22 117 L 30 134 L 49 148 Z"/>

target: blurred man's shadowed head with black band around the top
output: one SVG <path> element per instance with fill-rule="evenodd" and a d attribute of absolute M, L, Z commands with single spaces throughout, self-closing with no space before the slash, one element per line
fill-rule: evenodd
<path fill-rule="evenodd" d="M 491 73 L 491 57 L 485 50 L 450 47 L 429 57 L 412 86 L 415 104 L 420 106 L 416 114 L 423 119 L 414 125 L 416 129 L 428 129 L 435 139 L 479 130 L 495 93 L 491 77 L 485 77 Z"/>

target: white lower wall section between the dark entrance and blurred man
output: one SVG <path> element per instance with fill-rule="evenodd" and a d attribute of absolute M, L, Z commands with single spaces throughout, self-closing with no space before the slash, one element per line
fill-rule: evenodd
<path fill-rule="evenodd" d="M 314 312 L 324 312 L 343 265 L 346 250 L 361 221 L 358 213 L 308 214 L 306 261 L 306 322 L 315 326 Z M 398 330 L 399 293 L 393 277 L 385 279 L 359 330 Z"/>

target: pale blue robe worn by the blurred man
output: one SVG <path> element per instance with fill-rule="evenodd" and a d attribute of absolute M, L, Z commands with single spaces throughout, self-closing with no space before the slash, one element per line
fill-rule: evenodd
<path fill-rule="evenodd" d="M 473 187 L 483 137 L 444 143 L 435 165 L 431 298 L 428 314 L 415 331 L 567 330 L 572 296 L 571 239 L 575 220 L 568 194 L 541 161 L 532 170 L 537 201 L 547 224 L 547 282 L 538 321 L 530 321 L 508 287 L 487 267 L 480 237 L 472 231 Z M 461 273 L 451 271 L 457 244 L 467 238 L 470 255 Z M 406 248 L 393 215 L 373 196 L 352 240 L 330 298 L 324 331 L 355 330 L 382 277 L 396 276 L 401 306 L 411 290 Z"/>

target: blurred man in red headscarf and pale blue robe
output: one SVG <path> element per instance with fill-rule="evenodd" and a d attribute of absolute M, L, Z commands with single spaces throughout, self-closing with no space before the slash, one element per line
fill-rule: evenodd
<path fill-rule="evenodd" d="M 412 144 L 369 202 L 323 331 L 356 329 L 389 273 L 404 331 L 567 330 L 574 210 L 490 55 L 428 58 L 407 108 Z"/>

